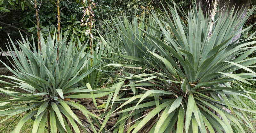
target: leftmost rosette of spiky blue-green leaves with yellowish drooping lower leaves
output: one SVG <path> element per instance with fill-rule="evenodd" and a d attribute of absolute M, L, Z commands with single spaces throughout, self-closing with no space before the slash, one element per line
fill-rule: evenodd
<path fill-rule="evenodd" d="M 77 49 L 74 43 L 66 43 L 66 36 L 60 37 L 60 41 L 56 42 L 55 34 L 53 38 L 49 35 L 46 40 L 42 37 L 42 52 L 39 50 L 37 52 L 35 43 L 31 45 L 28 39 L 22 38 L 22 42 L 17 41 L 17 44 L 18 47 L 12 40 L 9 44 L 13 68 L 5 65 L 13 76 L 2 75 L 12 82 L 0 81 L 11 86 L 0 89 L 1 93 L 11 97 L 9 100 L 0 101 L 0 115 L 7 116 L 4 121 L 16 114 L 21 116 L 13 132 L 20 132 L 23 124 L 29 119 L 34 120 L 32 133 L 44 132 L 44 128 L 52 133 L 97 132 L 97 123 L 93 124 L 95 122 L 92 121 L 102 119 L 80 105 L 77 100 L 66 98 L 71 94 L 79 93 L 77 82 L 98 67 L 95 65 L 81 73 L 89 61 L 89 53 L 81 58 L 86 45 Z M 58 48 L 59 62 L 56 60 Z M 12 91 L 14 88 L 20 88 L 25 92 Z M 83 91 L 83 94 L 90 95 L 93 91 L 83 89 L 87 90 Z M 82 121 L 87 121 L 89 125 L 85 127 Z"/>

